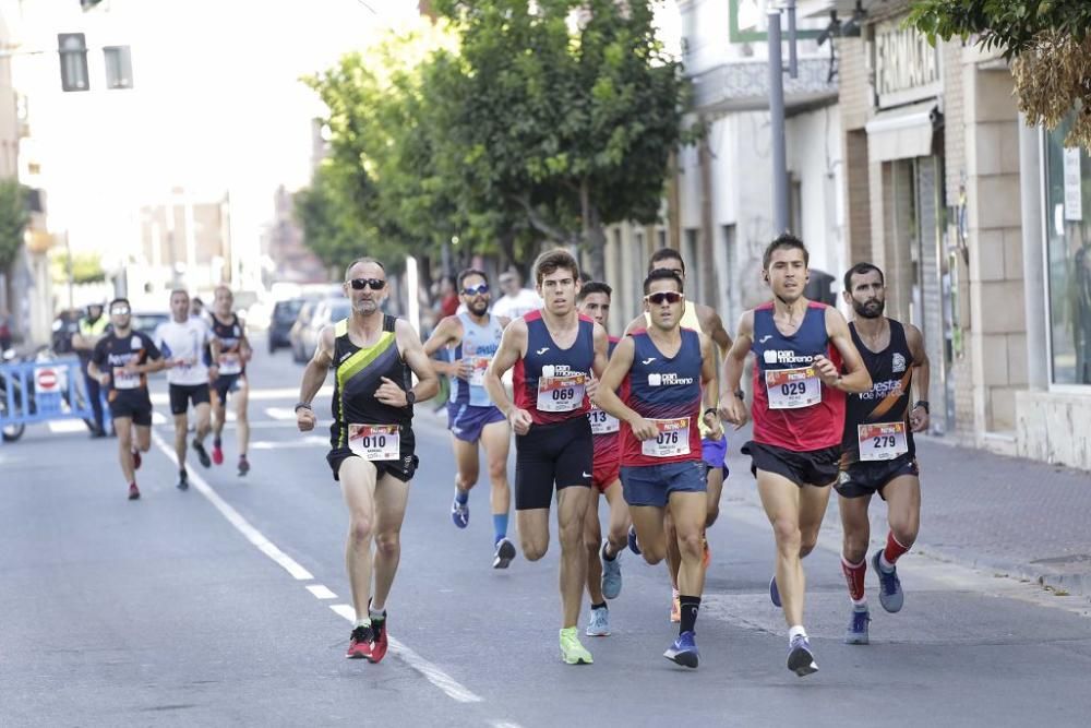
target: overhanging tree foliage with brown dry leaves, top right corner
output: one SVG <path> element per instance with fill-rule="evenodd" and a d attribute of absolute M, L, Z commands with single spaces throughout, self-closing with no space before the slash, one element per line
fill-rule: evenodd
<path fill-rule="evenodd" d="M 1076 111 L 1065 144 L 1091 148 L 1091 2 L 919 0 L 907 23 L 936 38 L 971 37 L 1011 61 L 1019 110 L 1056 129 Z"/>

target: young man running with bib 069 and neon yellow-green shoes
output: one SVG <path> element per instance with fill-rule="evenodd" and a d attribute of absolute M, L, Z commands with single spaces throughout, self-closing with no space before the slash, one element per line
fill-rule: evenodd
<path fill-rule="evenodd" d="M 576 310 L 579 266 L 564 250 L 535 262 L 546 306 L 515 319 L 485 372 L 485 389 L 515 430 L 515 512 L 523 556 L 538 561 L 549 548 L 550 503 L 556 487 L 561 539 L 561 659 L 590 665 L 576 634 L 587 577 L 584 516 L 594 469 L 588 397 L 590 379 L 607 362 L 607 332 Z M 513 403 L 501 378 L 515 368 Z"/>

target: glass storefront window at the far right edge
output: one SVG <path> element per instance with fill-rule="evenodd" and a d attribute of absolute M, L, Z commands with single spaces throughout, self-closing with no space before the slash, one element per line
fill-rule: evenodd
<path fill-rule="evenodd" d="M 1055 384 L 1091 384 L 1091 158 L 1046 133 L 1045 225 Z"/>

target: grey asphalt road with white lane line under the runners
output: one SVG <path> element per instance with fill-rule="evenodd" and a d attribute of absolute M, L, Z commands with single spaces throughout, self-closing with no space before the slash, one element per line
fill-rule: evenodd
<path fill-rule="evenodd" d="M 293 427 L 300 371 L 285 350 L 252 366 L 244 478 L 233 429 L 227 463 L 191 464 L 194 487 L 180 492 L 171 432 L 158 425 L 137 502 L 125 500 L 112 440 L 36 426 L 0 446 L 0 725 L 1088 725 L 1081 610 L 911 553 L 906 608 L 884 612 L 870 574 L 872 644 L 847 646 L 828 534 L 805 562 L 820 671 L 796 678 L 766 590 L 771 534 L 744 499 L 723 502 L 709 535 L 699 669 L 661 656 L 676 633 L 666 572 L 628 553 L 612 636 L 583 637 L 594 666 L 563 665 L 559 547 L 491 570 L 488 490 L 471 494 L 469 528 L 456 529 L 447 434 L 424 413 L 388 602 L 397 644 L 380 665 L 346 660 L 347 515 L 324 431 Z M 738 467 L 732 477 L 750 478 Z"/>

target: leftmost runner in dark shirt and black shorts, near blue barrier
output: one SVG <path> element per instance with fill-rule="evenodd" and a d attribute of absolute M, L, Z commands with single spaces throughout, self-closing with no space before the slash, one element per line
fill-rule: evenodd
<path fill-rule="evenodd" d="M 118 433 L 121 474 L 129 484 L 129 500 L 140 498 L 136 470 L 141 453 L 152 446 L 152 398 L 147 375 L 167 367 L 155 342 L 132 329 L 132 307 L 127 298 L 110 301 L 110 324 L 95 345 L 87 371 L 107 389 L 113 429 Z M 135 430 L 135 437 L 133 431 Z"/>

